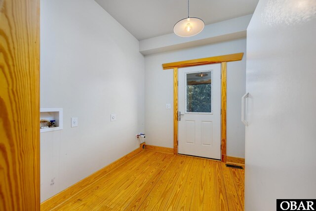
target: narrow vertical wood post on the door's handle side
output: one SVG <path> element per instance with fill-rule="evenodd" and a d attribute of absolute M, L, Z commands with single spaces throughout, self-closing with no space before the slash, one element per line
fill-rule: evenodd
<path fill-rule="evenodd" d="M 178 68 L 173 69 L 173 154 L 178 154 Z"/>

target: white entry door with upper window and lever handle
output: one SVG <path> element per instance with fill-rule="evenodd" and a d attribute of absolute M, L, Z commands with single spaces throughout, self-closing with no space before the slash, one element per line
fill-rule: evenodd
<path fill-rule="evenodd" d="M 221 159 L 221 64 L 179 69 L 178 153 Z"/>

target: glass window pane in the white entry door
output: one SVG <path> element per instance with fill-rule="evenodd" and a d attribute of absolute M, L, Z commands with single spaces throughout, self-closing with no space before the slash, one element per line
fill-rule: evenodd
<path fill-rule="evenodd" d="M 212 112 L 211 75 L 211 71 L 186 75 L 186 112 Z"/>

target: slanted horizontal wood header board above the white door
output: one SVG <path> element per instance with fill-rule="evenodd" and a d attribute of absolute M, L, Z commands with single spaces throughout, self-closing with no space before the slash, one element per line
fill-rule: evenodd
<path fill-rule="evenodd" d="M 233 62 L 239 61 L 242 59 L 243 53 L 234 53 L 234 54 L 227 54 L 221 56 L 213 56 L 201 59 L 192 59 L 180 62 L 172 62 L 172 63 L 165 63 L 162 64 L 163 70 L 174 69 L 174 68 L 184 68 L 184 67 L 192 67 L 192 66 L 199 66 L 199 65 L 207 65 L 207 64 L 215 64 L 215 63 L 222 63 L 222 62 Z"/>

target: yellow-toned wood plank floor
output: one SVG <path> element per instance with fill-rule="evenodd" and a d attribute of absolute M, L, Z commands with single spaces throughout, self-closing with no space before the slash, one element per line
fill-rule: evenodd
<path fill-rule="evenodd" d="M 243 211 L 244 170 L 145 150 L 52 210 Z"/>

